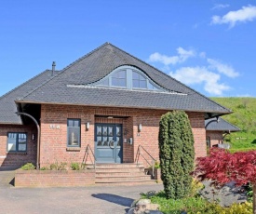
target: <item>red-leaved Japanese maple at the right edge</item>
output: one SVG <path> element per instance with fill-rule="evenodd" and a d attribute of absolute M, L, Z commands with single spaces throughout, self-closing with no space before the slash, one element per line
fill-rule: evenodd
<path fill-rule="evenodd" d="M 256 151 L 231 154 L 227 150 L 214 148 L 209 156 L 198 157 L 193 172 L 200 181 L 210 180 L 217 187 L 229 181 L 236 186 L 250 182 L 253 190 L 253 213 L 256 214 Z"/>

